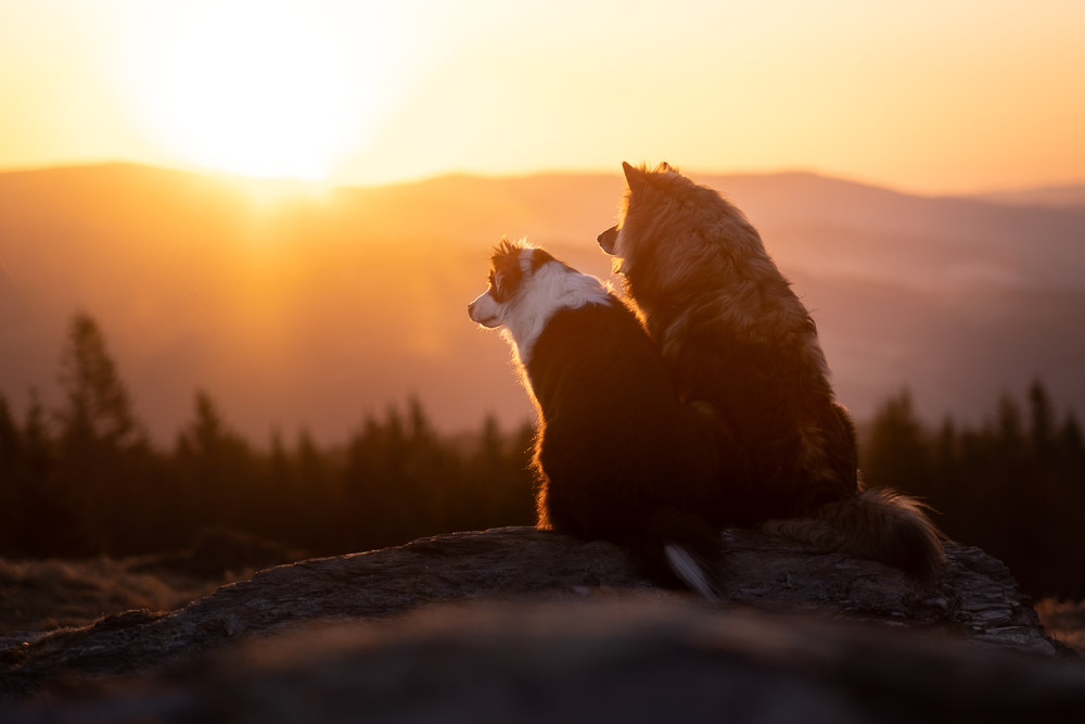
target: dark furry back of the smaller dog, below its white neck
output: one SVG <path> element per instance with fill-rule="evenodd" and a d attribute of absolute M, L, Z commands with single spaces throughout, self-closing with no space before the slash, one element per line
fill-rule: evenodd
<path fill-rule="evenodd" d="M 541 420 L 536 461 L 549 479 L 540 510 L 554 528 L 628 541 L 658 509 L 712 503 L 709 425 L 677 403 L 662 358 L 620 301 L 557 313 L 526 370 Z"/>

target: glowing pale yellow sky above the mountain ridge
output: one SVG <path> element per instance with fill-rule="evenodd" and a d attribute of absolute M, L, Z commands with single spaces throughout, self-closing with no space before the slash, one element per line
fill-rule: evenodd
<path fill-rule="evenodd" d="M 1085 182 L 1082 0 L 0 0 L 0 169 Z"/>

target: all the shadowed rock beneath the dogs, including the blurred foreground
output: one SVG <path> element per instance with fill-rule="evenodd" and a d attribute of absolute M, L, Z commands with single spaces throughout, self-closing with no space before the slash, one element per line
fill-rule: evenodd
<path fill-rule="evenodd" d="M 174 613 L 24 637 L 0 659 L 0 719 L 1085 713 L 1085 668 L 1051 656 L 1007 569 L 975 548 L 947 545 L 946 572 L 922 583 L 749 531 L 728 536 L 727 608 L 738 610 L 727 612 L 652 587 L 614 546 L 525 528 L 269 569 Z M 741 612 L 751 608 L 818 615 Z M 126 678 L 139 681 L 100 695 Z M 92 698 L 44 696 L 58 690 Z M 780 709 L 784 695 L 794 709 Z"/>

